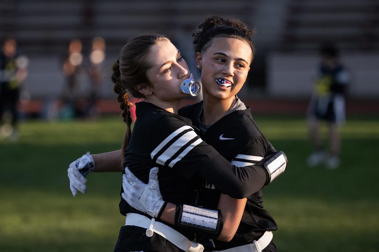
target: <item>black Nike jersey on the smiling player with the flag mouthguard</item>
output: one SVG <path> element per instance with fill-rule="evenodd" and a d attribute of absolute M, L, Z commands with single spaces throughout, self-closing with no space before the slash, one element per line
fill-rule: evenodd
<path fill-rule="evenodd" d="M 188 105 L 179 110 L 179 114 L 192 119 L 197 126 L 203 102 Z M 199 133 L 201 134 L 201 133 Z M 212 145 L 224 158 L 232 164 L 241 167 L 255 164 L 269 152 L 275 151 L 273 146 L 258 129 L 252 119 L 250 109 L 236 110 L 219 119 L 201 135 L 201 138 Z M 199 206 L 217 208 L 221 191 L 213 184 L 203 180 L 199 193 Z M 214 240 L 213 243 L 199 241 L 204 246 L 213 246 L 217 250 L 237 247 L 258 240 L 265 231 L 277 230 L 277 225 L 271 215 L 263 209 L 262 190 L 247 197 L 246 207 L 233 239 L 226 243 Z M 205 239 L 209 240 L 209 239 Z M 214 247 L 207 247 L 215 250 Z"/>

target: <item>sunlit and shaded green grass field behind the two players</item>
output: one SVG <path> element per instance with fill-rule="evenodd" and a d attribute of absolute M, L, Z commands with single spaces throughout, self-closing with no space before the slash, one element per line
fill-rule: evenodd
<path fill-rule="evenodd" d="M 349 119 L 336 170 L 305 166 L 311 146 L 304 118 L 255 120 L 289 161 L 285 174 L 263 189 L 279 226 L 279 251 L 379 251 L 379 120 Z M 124 131 L 118 117 L 29 121 L 20 124 L 18 142 L 0 142 L 0 251 L 113 251 L 124 222 L 121 176 L 92 173 L 87 194 L 74 198 L 67 168 L 86 151 L 119 148 Z"/>

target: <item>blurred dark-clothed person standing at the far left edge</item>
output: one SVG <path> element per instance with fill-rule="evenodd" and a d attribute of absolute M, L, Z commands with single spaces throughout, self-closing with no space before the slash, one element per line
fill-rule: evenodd
<path fill-rule="evenodd" d="M 22 82 L 28 75 L 28 58 L 17 53 L 14 39 L 6 39 L 0 53 L 0 139 L 18 139 L 17 129 L 19 101 Z"/>

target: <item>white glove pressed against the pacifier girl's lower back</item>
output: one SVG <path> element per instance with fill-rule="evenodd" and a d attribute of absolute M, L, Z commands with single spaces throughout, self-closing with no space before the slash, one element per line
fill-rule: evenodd
<path fill-rule="evenodd" d="M 122 175 L 121 197 L 135 209 L 157 218 L 164 201 L 158 184 L 158 167 L 153 167 L 149 173 L 149 182 L 145 184 L 129 170 L 125 168 Z"/>

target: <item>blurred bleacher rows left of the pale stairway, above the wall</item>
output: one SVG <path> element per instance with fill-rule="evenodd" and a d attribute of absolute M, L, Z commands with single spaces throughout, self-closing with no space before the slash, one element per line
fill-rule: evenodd
<path fill-rule="evenodd" d="M 220 4 L 221 3 L 221 4 Z M 249 22 L 254 1 L 219 0 L 2 0 L 0 37 L 14 34 L 27 54 L 60 53 L 72 38 L 106 40 L 119 52 L 127 38 L 144 31 L 175 36 L 194 31 L 208 15 Z M 201 6 L 201 8 L 199 8 Z M 189 34 L 191 36 L 191 34 Z"/>

